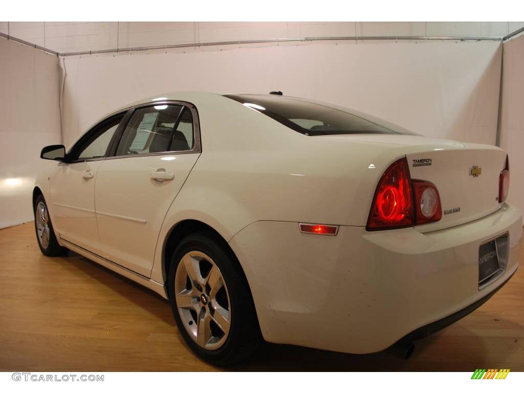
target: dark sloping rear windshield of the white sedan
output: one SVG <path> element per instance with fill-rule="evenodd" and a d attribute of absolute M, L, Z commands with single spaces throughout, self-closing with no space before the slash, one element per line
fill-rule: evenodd
<path fill-rule="evenodd" d="M 351 113 L 301 99 L 266 94 L 227 94 L 225 97 L 304 135 L 404 134 Z"/>

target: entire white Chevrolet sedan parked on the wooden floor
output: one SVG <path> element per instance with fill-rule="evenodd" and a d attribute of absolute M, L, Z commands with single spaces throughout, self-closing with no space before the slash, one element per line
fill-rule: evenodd
<path fill-rule="evenodd" d="M 216 364 L 262 339 L 407 357 L 519 263 L 505 151 L 280 92 L 141 101 L 41 158 L 42 253 L 160 293 Z"/>

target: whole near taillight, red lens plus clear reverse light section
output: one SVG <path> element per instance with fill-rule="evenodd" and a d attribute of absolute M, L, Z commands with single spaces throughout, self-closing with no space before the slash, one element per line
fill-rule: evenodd
<path fill-rule="evenodd" d="M 401 158 L 391 164 L 378 182 L 366 230 L 404 228 L 438 221 L 441 217 L 440 196 L 435 185 L 411 180 L 408 161 Z"/>

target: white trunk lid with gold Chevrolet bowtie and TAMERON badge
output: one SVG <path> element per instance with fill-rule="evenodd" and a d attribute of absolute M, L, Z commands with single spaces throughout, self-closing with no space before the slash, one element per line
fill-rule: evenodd
<path fill-rule="evenodd" d="M 506 152 L 496 146 L 412 135 L 358 134 L 315 138 L 388 144 L 391 148 L 386 151 L 391 152 L 390 163 L 405 155 L 411 179 L 432 182 L 440 195 L 442 219 L 416 226 L 422 233 L 477 220 L 500 208 L 499 175 L 506 163 Z"/>

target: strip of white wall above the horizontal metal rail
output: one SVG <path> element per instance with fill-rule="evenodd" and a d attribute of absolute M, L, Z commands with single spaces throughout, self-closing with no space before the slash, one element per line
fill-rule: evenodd
<path fill-rule="evenodd" d="M 503 37 L 524 22 L 0 22 L 0 32 L 63 52 L 337 36 Z"/>

